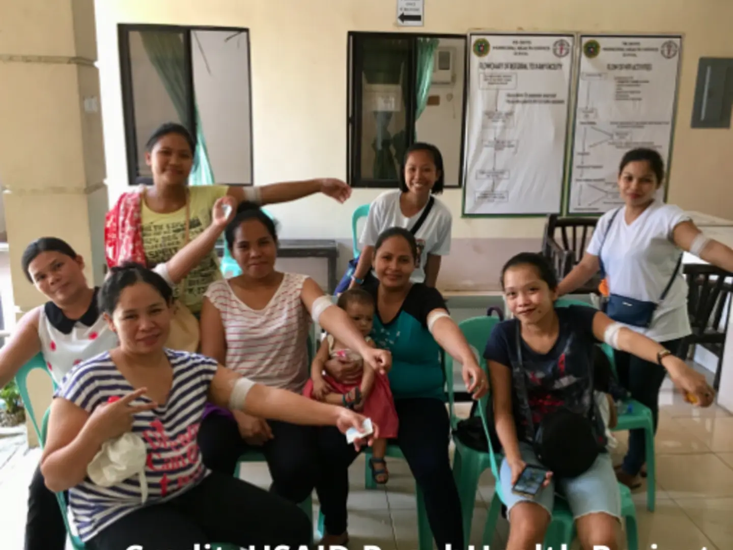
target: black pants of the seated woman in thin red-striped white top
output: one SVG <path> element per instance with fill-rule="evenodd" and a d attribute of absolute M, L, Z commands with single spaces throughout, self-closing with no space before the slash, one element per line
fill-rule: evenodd
<path fill-rule="evenodd" d="M 273 485 L 270 491 L 296 504 L 315 488 L 325 520 L 325 530 L 341 535 L 347 527 L 349 465 L 356 458 L 353 445 L 336 428 L 300 426 L 269 420 L 273 433 L 262 447 L 242 439 L 232 417 L 209 414 L 199 428 L 199 447 L 205 465 L 232 476 L 240 455 L 257 449 L 265 454 Z"/>

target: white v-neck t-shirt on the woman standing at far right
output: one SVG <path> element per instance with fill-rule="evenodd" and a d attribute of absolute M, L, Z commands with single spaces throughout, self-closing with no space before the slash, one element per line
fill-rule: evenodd
<path fill-rule="evenodd" d="M 658 301 L 682 254 L 672 241 L 672 232 L 679 223 L 690 220 L 690 216 L 677 206 L 655 201 L 641 216 L 627 224 L 626 207 L 622 207 L 606 235 L 614 212 L 616 210 L 611 210 L 598 220 L 587 252 L 597 256 L 600 251 L 609 292 L 637 300 Z M 688 336 L 692 330 L 687 296 L 688 286 L 680 266 L 649 329 L 629 328 L 656 342 Z"/>

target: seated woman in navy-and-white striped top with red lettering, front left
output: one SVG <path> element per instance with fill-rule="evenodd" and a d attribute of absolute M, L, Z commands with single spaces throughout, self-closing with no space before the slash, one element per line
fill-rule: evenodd
<path fill-rule="evenodd" d="M 361 428 L 364 417 L 254 384 L 196 353 L 164 348 L 172 290 L 140 265 L 113 268 L 99 304 L 119 347 L 67 374 L 51 404 L 41 459 L 48 488 L 69 491 L 87 548 L 308 544 L 312 526 L 302 510 L 202 464 L 196 431 L 205 403 L 342 432 Z M 97 452 L 104 455 L 121 436 L 144 448 L 139 469 L 95 483 Z"/>

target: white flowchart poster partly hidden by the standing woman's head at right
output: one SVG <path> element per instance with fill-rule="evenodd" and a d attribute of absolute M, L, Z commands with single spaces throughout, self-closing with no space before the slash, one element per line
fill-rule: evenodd
<path fill-rule="evenodd" d="M 668 165 L 682 37 L 581 35 L 580 44 L 567 212 L 602 214 L 622 204 L 628 150 L 655 149 Z"/>

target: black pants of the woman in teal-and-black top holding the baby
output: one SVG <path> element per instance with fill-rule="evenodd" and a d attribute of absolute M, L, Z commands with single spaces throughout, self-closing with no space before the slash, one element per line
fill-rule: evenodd
<path fill-rule="evenodd" d="M 458 489 L 448 455 L 450 419 L 445 403 L 413 398 L 394 402 L 399 417 L 397 443 L 422 489 L 427 519 L 439 549 L 463 549 Z"/>

